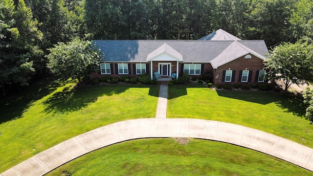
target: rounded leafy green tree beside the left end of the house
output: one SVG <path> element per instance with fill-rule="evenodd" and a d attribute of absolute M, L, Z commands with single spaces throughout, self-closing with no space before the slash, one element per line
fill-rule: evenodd
<path fill-rule="evenodd" d="M 103 53 L 94 44 L 79 38 L 54 46 L 49 49 L 50 54 L 46 56 L 47 67 L 65 80 L 77 78 L 79 84 L 81 78 L 88 75 L 103 57 Z"/>

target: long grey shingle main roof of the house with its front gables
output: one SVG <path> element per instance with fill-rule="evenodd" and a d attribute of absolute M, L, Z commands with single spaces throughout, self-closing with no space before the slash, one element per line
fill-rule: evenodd
<path fill-rule="evenodd" d="M 263 40 L 94 40 L 105 54 L 103 62 L 147 62 L 161 53 L 168 53 L 182 63 L 211 63 L 222 66 L 251 53 L 265 59 L 268 49 Z"/>

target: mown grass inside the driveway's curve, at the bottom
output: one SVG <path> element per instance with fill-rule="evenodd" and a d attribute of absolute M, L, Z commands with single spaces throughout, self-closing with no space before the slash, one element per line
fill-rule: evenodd
<path fill-rule="evenodd" d="M 47 176 L 311 176 L 275 157 L 216 141 L 172 138 L 118 143 L 79 157 Z"/>

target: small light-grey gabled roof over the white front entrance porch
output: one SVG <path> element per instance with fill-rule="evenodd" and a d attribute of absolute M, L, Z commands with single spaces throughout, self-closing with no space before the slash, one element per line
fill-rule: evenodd
<path fill-rule="evenodd" d="M 178 61 L 183 61 L 182 55 L 166 43 L 164 43 L 160 47 L 156 48 L 156 50 L 149 53 L 146 60 L 151 61 L 153 58 L 155 58 L 155 57 L 157 57 L 163 53 L 167 53 L 167 54 L 173 56 Z"/>

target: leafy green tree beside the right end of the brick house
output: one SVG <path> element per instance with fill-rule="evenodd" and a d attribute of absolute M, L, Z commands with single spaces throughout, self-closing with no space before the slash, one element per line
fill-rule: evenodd
<path fill-rule="evenodd" d="M 304 84 L 312 81 L 313 75 L 313 45 L 307 42 L 295 44 L 283 43 L 276 46 L 265 60 L 269 69 L 267 76 L 271 80 L 282 79 L 285 91 L 294 84 Z"/>

